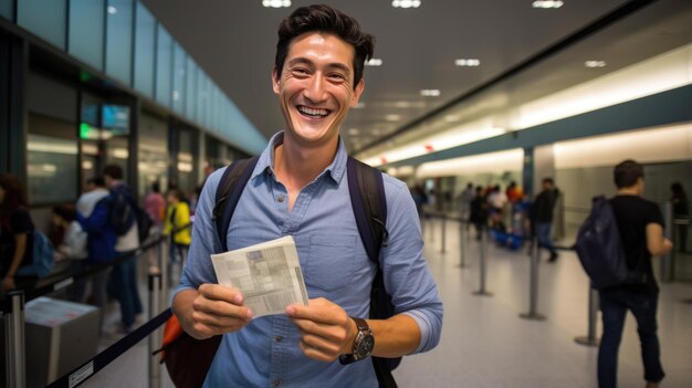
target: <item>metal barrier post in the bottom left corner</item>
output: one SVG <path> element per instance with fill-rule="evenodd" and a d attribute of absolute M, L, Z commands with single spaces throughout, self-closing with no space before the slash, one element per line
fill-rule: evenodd
<path fill-rule="evenodd" d="M 6 382 L 11 388 L 27 387 L 24 355 L 24 292 L 12 291 L 6 296 L 4 363 Z"/>

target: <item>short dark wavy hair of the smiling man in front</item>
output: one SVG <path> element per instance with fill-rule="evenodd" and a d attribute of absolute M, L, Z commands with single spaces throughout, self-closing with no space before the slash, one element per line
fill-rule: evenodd
<path fill-rule="evenodd" d="M 274 59 L 276 76 L 281 76 L 293 39 L 313 31 L 333 33 L 354 48 L 354 88 L 356 88 L 363 78 L 365 61 L 373 57 L 375 38 L 360 31 L 360 24 L 354 18 L 325 4 L 301 7 L 279 23 L 279 42 Z"/>

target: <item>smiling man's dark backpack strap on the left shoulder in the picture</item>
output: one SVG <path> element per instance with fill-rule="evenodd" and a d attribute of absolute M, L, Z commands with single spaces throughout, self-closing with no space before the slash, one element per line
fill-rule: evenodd
<path fill-rule="evenodd" d="M 221 242 L 221 252 L 228 251 L 228 244 L 226 237 L 231 224 L 231 218 L 235 212 L 235 207 L 240 200 L 240 195 L 243 192 L 250 176 L 254 170 L 254 167 L 260 160 L 259 156 L 253 156 L 250 159 L 240 159 L 233 161 L 221 176 L 219 186 L 217 186 L 216 203 L 213 207 L 212 220 L 217 224 L 217 235 Z"/>

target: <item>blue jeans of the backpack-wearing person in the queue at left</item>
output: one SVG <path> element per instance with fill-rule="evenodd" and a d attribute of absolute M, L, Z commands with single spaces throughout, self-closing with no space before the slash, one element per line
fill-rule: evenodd
<path fill-rule="evenodd" d="M 137 290 L 137 260 L 129 258 L 113 268 L 113 289 L 120 304 L 123 328 L 129 331 L 135 315 L 141 313 L 141 301 Z"/>

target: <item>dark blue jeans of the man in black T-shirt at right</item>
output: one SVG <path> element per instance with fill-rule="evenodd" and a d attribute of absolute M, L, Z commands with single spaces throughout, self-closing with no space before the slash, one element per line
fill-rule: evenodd
<path fill-rule="evenodd" d="M 598 387 L 617 387 L 618 348 L 625 328 L 625 316 L 631 311 L 637 318 L 637 331 L 641 342 L 641 358 L 644 364 L 644 380 L 659 382 L 665 374 L 661 366 L 661 352 L 657 335 L 656 311 L 658 295 L 628 290 L 600 292 L 600 311 L 604 335 L 598 348 Z"/>

